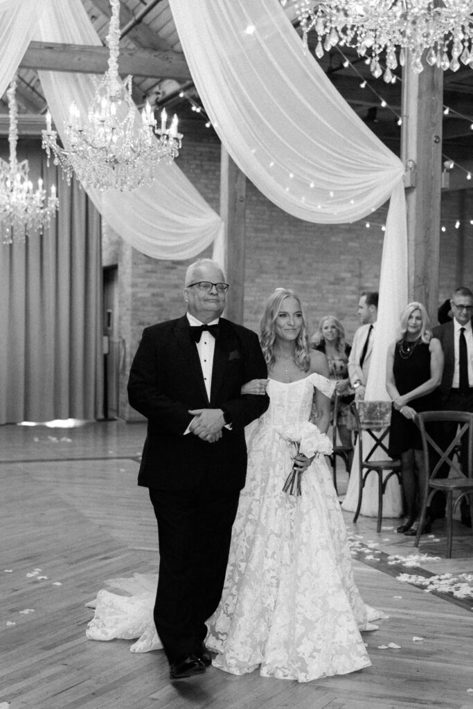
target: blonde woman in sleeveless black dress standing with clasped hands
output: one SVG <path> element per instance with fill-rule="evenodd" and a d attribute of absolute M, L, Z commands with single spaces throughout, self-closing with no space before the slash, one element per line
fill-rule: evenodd
<path fill-rule="evenodd" d="M 428 328 L 428 315 L 422 303 L 409 303 L 401 315 L 400 338 L 389 346 L 386 389 L 393 400 L 389 455 L 401 458 L 401 477 L 406 519 L 398 532 L 413 536 L 417 532 L 418 491 L 424 476 L 421 433 L 413 418 L 419 411 L 439 407 L 437 389 L 442 379 L 443 352 L 439 340 Z M 425 520 L 423 534 L 430 531 Z"/>

